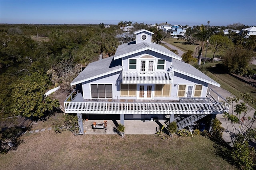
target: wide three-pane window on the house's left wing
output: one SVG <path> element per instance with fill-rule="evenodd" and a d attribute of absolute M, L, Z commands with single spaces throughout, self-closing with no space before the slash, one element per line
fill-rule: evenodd
<path fill-rule="evenodd" d="M 91 84 L 92 99 L 112 98 L 112 85 Z"/>

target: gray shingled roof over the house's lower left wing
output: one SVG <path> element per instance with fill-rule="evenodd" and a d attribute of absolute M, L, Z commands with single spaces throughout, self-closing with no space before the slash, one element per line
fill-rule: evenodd
<path fill-rule="evenodd" d="M 114 57 L 112 56 L 88 64 L 87 67 L 85 67 L 85 69 L 71 82 L 71 85 L 76 85 L 88 81 L 93 77 L 122 69 L 121 59 L 114 60 L 113 58 Z"/>

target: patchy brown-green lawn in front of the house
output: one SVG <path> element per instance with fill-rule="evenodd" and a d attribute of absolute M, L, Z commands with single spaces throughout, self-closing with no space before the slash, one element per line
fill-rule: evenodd
<path fill-rule="evenodd" d="M 232 170 L 222 146 L 203 136 L 91 134 L 53 130 L 25 134 L 17 150 L 0 155 L 1 169 Z"/>

